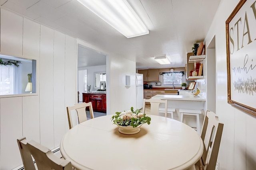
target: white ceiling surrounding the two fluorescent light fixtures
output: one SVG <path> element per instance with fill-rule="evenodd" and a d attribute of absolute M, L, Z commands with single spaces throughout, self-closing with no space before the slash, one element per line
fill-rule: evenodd
<path fill-rule="evenodd" d="M 129 39 L 76 0 L 0 0 L 0 5 L 106 53 L 136 61 L 136 68 L 164 68 L 185 66 L 186 53 L 192 51 L 193 43 L 204 40 L 220 1 L 128 0 L 149 29 L 148 35 Z M 85 50 L 81 54 L 88 53 L 88 49 L 80 49 Z M 154 56 L 165 54 L 171 64 L 160 65 L 154 61 Z M 80 66 L 100 61 L 97 57 L 87 57 L 89 61 L 86 61 L 84 55 L 78 58 Z"/>

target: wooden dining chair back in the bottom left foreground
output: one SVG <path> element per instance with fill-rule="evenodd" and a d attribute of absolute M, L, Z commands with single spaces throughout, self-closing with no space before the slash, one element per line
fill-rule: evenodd
<path fill-rule="evenodd" d="M 58 158 L 50 149 L 36 141 L 27 141 L 26 137 L 22 137 L 17 139 L 17 142 L 25 170 L 73 170 L 70 161 Z"/>

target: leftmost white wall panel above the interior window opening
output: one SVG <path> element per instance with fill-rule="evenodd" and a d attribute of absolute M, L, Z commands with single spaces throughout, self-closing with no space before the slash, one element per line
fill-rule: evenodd
<path fill-rule="evenodd" d="M 1 10 L 0 51 L 22 55 L 23 18 L 12 12 Z"/>

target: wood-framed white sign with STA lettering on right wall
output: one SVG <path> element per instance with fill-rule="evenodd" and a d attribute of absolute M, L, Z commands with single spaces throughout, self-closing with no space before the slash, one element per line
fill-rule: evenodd
<path fill-rule="evenodd" d="M 256 1 L 240 0 L 226 20 L 228 104 L 256 116 Z"/>

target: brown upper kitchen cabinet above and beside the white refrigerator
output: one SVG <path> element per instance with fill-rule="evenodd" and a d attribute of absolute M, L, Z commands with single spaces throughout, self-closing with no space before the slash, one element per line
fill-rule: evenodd
<path fill-rule="evenodd" d="M 144 82 L 159 82 L 159 69 L 143 69 L 138 73 L 143 74 Z"/>

